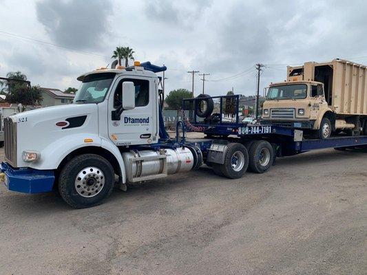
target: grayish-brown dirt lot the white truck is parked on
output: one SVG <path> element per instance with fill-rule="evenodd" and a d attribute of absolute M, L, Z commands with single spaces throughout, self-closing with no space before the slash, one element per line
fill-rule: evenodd
<path fill-rule="evenodd" d="M 83 210 L 1 185 L 0 274 L 366 274 L 366 168 L 333 149 L 238 180 L 203 167 Z"/>

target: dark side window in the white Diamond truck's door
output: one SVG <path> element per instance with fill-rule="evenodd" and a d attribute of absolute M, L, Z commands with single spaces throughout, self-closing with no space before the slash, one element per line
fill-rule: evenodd
<path fill-rule="evenodd" d="M 121 90 L 124 81 L 131 81 L 135 86 L 135 107 L 147 106 L 149 103 L 149 80 L 124 78 L 118 83 L 114 94 L 114 108 L 122 104 Z"/>

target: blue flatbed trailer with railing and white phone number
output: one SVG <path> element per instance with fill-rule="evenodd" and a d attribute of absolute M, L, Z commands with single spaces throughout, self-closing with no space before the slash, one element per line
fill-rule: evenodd
<path fill-rule="evenodd" d="M 239 96 L 214 96 L 210 97 L 212 100 L 216 100 L 219 104 L 219 113 L 216 113 L 219 119 L 216 122 L 211 120 L 202 119 L 198 115 L 195 108 L 200 98 L 187 98 L 182 102 L 183 109 L 183 122 L 178 122 L 177 126 L 181 126 L 183 132 L 195 131 L 205 133 L 207 135 L 207 142 L 215 142 L 216 140 L 235 140 L 235 138 L 241 140 L 243 143 L 245 140 L 267 140 L 272 144 L 278 146 L 276 154 L 278 156 L 283 155 L 296 155 L 298 153 L 304 153 L 306 151 L 322 149 L 322 148 L 348 148 L 348 147 L 366 147 L 367 135 L 359 136 L 346 136 L 336 135 L 329 137 L 328 139 L 310 139 L 304 137 L 304 133 L 300 129 L 277 126 L 273 124 L 247 124 L 240 122 L 238 116 L 238 102 Z M 228 104 L 229 102 L 229 104 Z M 191 107 L 185 109 L 185 107 Z M 225 108 L 230 110 L 225 110 Z M 189 118 L 185 117 L 189 112 Z M 223 118 L 229 116 L 231 119 L 227 121 Z M 184 126 L 182 126 L 184 125 Z M 178 131 L 176 131 L 176 142 L 180 141 L 178 137 Z M 183 142 L 181 138 L 181 142 Z"/>

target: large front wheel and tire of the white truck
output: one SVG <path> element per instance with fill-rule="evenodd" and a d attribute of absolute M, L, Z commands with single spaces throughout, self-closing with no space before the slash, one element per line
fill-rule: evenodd
<path fill-rule="evenodd" d="M 78 155 L 65 164 L 59 175 L 60 195 L 73 208 L 98 206 L 113 188 L 114 168 L 100 155 Z"/>

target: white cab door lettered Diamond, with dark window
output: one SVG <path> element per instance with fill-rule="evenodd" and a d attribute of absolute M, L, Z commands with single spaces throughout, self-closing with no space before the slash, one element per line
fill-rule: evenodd
<path fill-rule="evenodd" d="M 117 78 L 109 96 L 108 131 L 109 138 L 117 146 L 149 144 L 155 136 L 155 102 L 152 91 L 154 85 L 150 78 L 122 76 Z M 120 118 L 112 115 L 122 104 L 123 82 L 129 81 L 135 86 L 135 108 L 123 110 Z"/>

